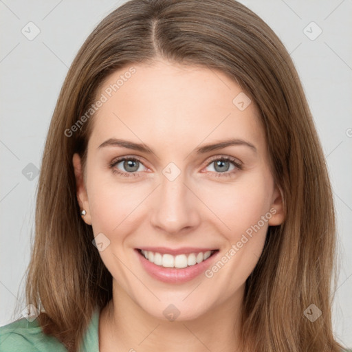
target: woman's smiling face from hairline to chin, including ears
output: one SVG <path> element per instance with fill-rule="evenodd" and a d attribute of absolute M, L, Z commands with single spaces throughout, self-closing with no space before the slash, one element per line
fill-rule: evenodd
<path fill-rule="evenodd" d="M 78 201 L 114 294 L 157 318 L 197 318 L 241 300 L 283 221 L 281 193 L 239 85 L 166 61 L 131 67 L 98 92 L 84 183 L 74 155 Z"/>

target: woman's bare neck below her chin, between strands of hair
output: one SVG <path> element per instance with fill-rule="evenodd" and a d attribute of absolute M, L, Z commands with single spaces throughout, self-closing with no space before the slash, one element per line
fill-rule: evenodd
<path fill-rule="evenodd" d="M 192 320 L 155 318 L 135 303 L 113 279 L 113 299 L 102 309 L 100 352 L 192 351 L 239 349 L 243 289 L 236 296 Z"/>

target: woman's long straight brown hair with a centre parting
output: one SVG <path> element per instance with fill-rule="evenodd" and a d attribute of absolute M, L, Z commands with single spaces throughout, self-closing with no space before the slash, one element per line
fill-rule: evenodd
<path fill-rule="evenodd" d="M 94 307 L 112 297 L 111 274 L 80 218 L 72 166 L 76 152 L 85 161 L 94 114 L 78 131 L 72 126 L 82 122 L 109 74 L 157 56 L 221 70 L 261 115 L 286 217 L 268 229 L 245 284 L 243 351 L 340 352 L 331 327 L 336 224 L 325 157 L 283 43 L 234 0 L 131 0 L 80 48 L 52 116 L 39 178 L 26 300 L 43 311 L 43 331 L 78 351 Z M 322 316 L 311 322 L 305 311 L 313 304 Z"/>

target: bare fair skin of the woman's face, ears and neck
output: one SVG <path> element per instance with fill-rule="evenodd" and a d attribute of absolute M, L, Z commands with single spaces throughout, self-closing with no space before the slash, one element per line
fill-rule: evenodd
<path fill-rule="evenodd" d="M 100 252 L 113 276 L 113 299 L 102 309 L 100 351 L 234 351 L 245 280 L 259 260 L 269 225 L 283 222 L 281 192 L 274 184 L 265 133 L 254 103 L 240 111 L 232 100 L 242 89 L 217 70 L 156 61 L 133 65 L 126 80 L 94 116 L 83 171 L 73 158 L 77 198 L 92 225 L 110 244 Z M 111 74 L 97 96 L 127 69 Z M 93 122 L 93 121 L 92 121 Z M 228 138 L 254 144 L 227 146 L 197 155 L 195 148 Z M 144 143 L 154 154 L 120 146 L 98 148 L 109 138 Z M 133 177 L 116 157 L 139 157 Z M 211 157 L 228 156 L 221 176 Z M 173 181 L 162 170 L 173 162 Z M 131 171 L 130 171 L 131 173 Z M 270 209 L 276 213 L 212 278 L 162 283 L 137 260 L 134 248 L 165 246 L 219 248 L 218 258 Z M 179 310 L 171 322 L 168 305 Z"/>

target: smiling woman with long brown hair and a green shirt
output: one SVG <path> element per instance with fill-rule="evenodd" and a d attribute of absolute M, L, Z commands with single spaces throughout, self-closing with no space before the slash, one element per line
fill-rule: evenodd
<path fill-rule="evenodd" d="M 233 0 L 132 0 L 67 74 L 28 270 L 41 314 L 2 327 L 0 351 L 340 352 L 334 253 L 278 37 Z"/>

